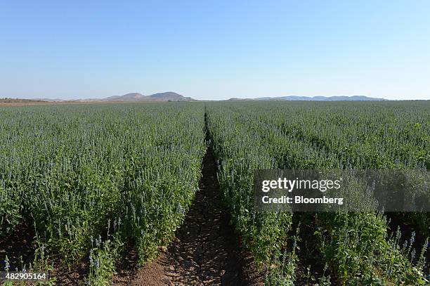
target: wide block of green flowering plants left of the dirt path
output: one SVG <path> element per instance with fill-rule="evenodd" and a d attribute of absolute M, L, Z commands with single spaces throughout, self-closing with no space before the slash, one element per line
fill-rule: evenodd
<path fill-rule="evenodd" d="M 36 229 L 32 268 L 60 255 L 108 285 L 124 245 L 145 264 L 169 244 L 201 176 L 202 105 L 2 108 L 0 118 L 0 235 L 23 221 Z"/>

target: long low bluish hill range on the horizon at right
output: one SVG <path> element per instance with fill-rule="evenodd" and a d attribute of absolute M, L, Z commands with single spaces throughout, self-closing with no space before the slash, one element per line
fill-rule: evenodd
<path fill-rule="evenodd" d="M 230 98 L 229 100 L 306 100 L 306 101 L 384 101 L 384 98 L 370 98 L 367 96 L 280 96 L 261 98 Z"/>

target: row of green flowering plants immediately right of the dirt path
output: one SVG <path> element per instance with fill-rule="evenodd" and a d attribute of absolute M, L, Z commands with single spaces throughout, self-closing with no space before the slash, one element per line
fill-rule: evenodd
<path fill-rule="evenodd" d="M 273 169 L 276 160 L 254 125 L 237 120 L 227 105 L 207 105 L 209 137 L 218 165 L 218 179 L 231 221 L 269 285 L 292 285 L 297 266 L 297 236 L 292 212 L 256 212 L 255 169 Z"/>

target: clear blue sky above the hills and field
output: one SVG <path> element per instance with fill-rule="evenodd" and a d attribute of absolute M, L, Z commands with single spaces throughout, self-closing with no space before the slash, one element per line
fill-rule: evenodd
<path fill-rule="evenodd" d="M 430 99 L 429 13 L 430 1 L 2 1 L 0 97 Z"/>

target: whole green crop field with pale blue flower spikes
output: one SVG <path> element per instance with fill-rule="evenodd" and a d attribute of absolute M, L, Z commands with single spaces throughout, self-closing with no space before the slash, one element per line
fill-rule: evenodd
<path fill-rule="evenodd" d="M 429 101 L 5 106 L 0 141 L 0 271 L 41 285 L 430 285 L 429 213 L 259 212 L 253 187 L 428 171 Z"/>

